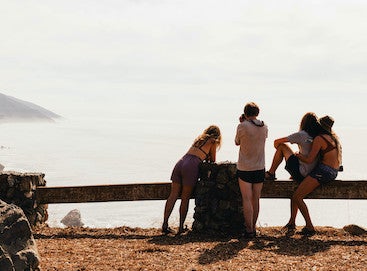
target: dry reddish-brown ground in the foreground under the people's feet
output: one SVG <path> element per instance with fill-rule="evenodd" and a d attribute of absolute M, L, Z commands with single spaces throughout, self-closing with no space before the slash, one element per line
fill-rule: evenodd
<path fill-rule="evenodd" d="M 246 240 L 191 231 L 165 236 L 159 229 L 43 227 L 34 237 L 41 271 L 367 270 L 366 234 L 316 229 L 303 237 L 260 228 L 256 239 Z"/>

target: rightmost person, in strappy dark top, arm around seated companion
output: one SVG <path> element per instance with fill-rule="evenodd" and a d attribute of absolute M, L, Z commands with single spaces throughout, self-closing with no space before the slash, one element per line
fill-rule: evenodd
<path fill-rule="evenodd" d="M 310 153 L 307 156 L 297 153 L 296 156 L 306 163 L 312 163 L 320 156 L 320 163 L 316 165 L 294 192 L 291 199 L 291 217 L 284 227 L 287 230 L 295 229 L 297 209 L 299 209 L 306 222 L 306 226 L 301 231 L 303 235 L 313 235 L 316 233 L 304 198 L 318 186 L 335 180 L 342 161 L 340 141 L 331 129 L 334 120 L 329 116 L 325 116 L 319 119 L 319 124 L 321 126 L 321 132 L 315 137 Z"/>

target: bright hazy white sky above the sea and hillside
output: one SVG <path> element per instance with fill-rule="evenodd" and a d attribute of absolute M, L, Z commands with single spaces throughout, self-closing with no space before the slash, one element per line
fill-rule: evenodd
<path fill-rule="evenodd" d="M 365 0 L 1 0 L 0 92 L 365 91 Z"/>

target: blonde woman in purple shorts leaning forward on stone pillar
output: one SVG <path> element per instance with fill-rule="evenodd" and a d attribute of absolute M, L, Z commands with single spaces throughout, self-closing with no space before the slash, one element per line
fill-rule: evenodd
<path fill-rule="evenodd" d="M 176 163 L 171 175 L 171 193 L 164 209 L 162 225 L 164 234 L 172 233 L 168 226 L 168 219 L 180 195 L 180 225 L 177 234 L 185 231 L 184 223 L 189 201 L 199 178 L 199 164 L 202 161 L 215 162 L 216 152 L 220 148 L 221 142 L 222 136 L 219 127 L 211 125 L 194 140 L 187 153 Z"/>

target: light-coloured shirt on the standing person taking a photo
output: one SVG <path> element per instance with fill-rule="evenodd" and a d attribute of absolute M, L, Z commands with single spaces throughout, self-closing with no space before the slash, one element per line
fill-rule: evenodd
<path fill-rule="evenodd" d="M 261 126 L 262 125 L 262 126 Z M 235 142 L 240 145 L 237 169 L 254 171 L 265 169 L 265 140 L 268 126 L 255 119 L 238 124 Z"/>

